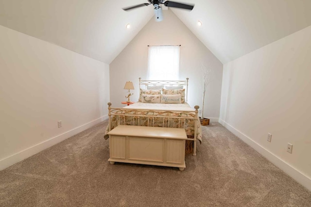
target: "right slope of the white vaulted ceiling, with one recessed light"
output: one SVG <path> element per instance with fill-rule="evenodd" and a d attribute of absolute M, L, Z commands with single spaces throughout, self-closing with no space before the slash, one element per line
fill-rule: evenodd
<path fill-rule="evenodd" d="M 172 10 L 223 64 L 311 25 L 311 0 L 191 2 L 191 12 Z"/>

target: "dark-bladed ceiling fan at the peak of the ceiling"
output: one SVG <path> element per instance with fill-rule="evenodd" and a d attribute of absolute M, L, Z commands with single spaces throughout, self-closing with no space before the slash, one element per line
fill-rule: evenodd
<path fill-rule="evenodd" d="M 135 9 L 141 6 L 148 6 L 150 4 L 154 5 L 154 11 L 155 11 L 155 21 L 162 21 L 163 20 L 163 15 L 162 15 L 162 7 L 160 6 L 161 4 L 164 4 L 164 6 L 167 7 L 174 7 L 174 8 L 179 8 L 179 9 L 188 9 L 188 10 L 192 10 L 194 7 L 194 4 L 184 4 L 184 3 L 178 3 L 175 1 L 165 1 L 165 0 L 148 0 L 149 3 L 142 3 L 142 4 L 138 4 L 135 6 L 130 6 L 130 7 L 126 7 L 126 8 L 122 8 L 124 11 L 128 11 L 131 9 Z M 164 2 L 165 1 L 165 2 Z"/>

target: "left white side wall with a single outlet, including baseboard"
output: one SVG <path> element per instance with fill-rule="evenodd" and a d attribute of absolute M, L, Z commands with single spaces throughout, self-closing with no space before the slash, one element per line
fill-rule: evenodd
<path fill-rule="evenodd" d="M 108 64 L 0 26 L 0 170 L 103 120 L 108 100 Z"/>

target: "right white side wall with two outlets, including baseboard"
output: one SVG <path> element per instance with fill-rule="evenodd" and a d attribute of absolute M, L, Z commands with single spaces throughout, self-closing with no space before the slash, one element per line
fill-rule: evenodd
<path fill-rule="evenodd" d="M 309 190 L 310 37 L 311 26 L 225 64 L 220 116 L 220 123 Z M 294 145 L 292 154 L 287 143 Z"/>

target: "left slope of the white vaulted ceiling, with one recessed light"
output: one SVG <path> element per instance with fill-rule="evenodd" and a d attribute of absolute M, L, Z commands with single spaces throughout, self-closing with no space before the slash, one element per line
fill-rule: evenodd
<path fill-rule="evenodd" d="M 0 0 L 0 25 L 67 48 L 106 64 L 153 16 L 121 8 L 141 0 Z M 131 23 L 131 30 L 126 24 Z"/>

